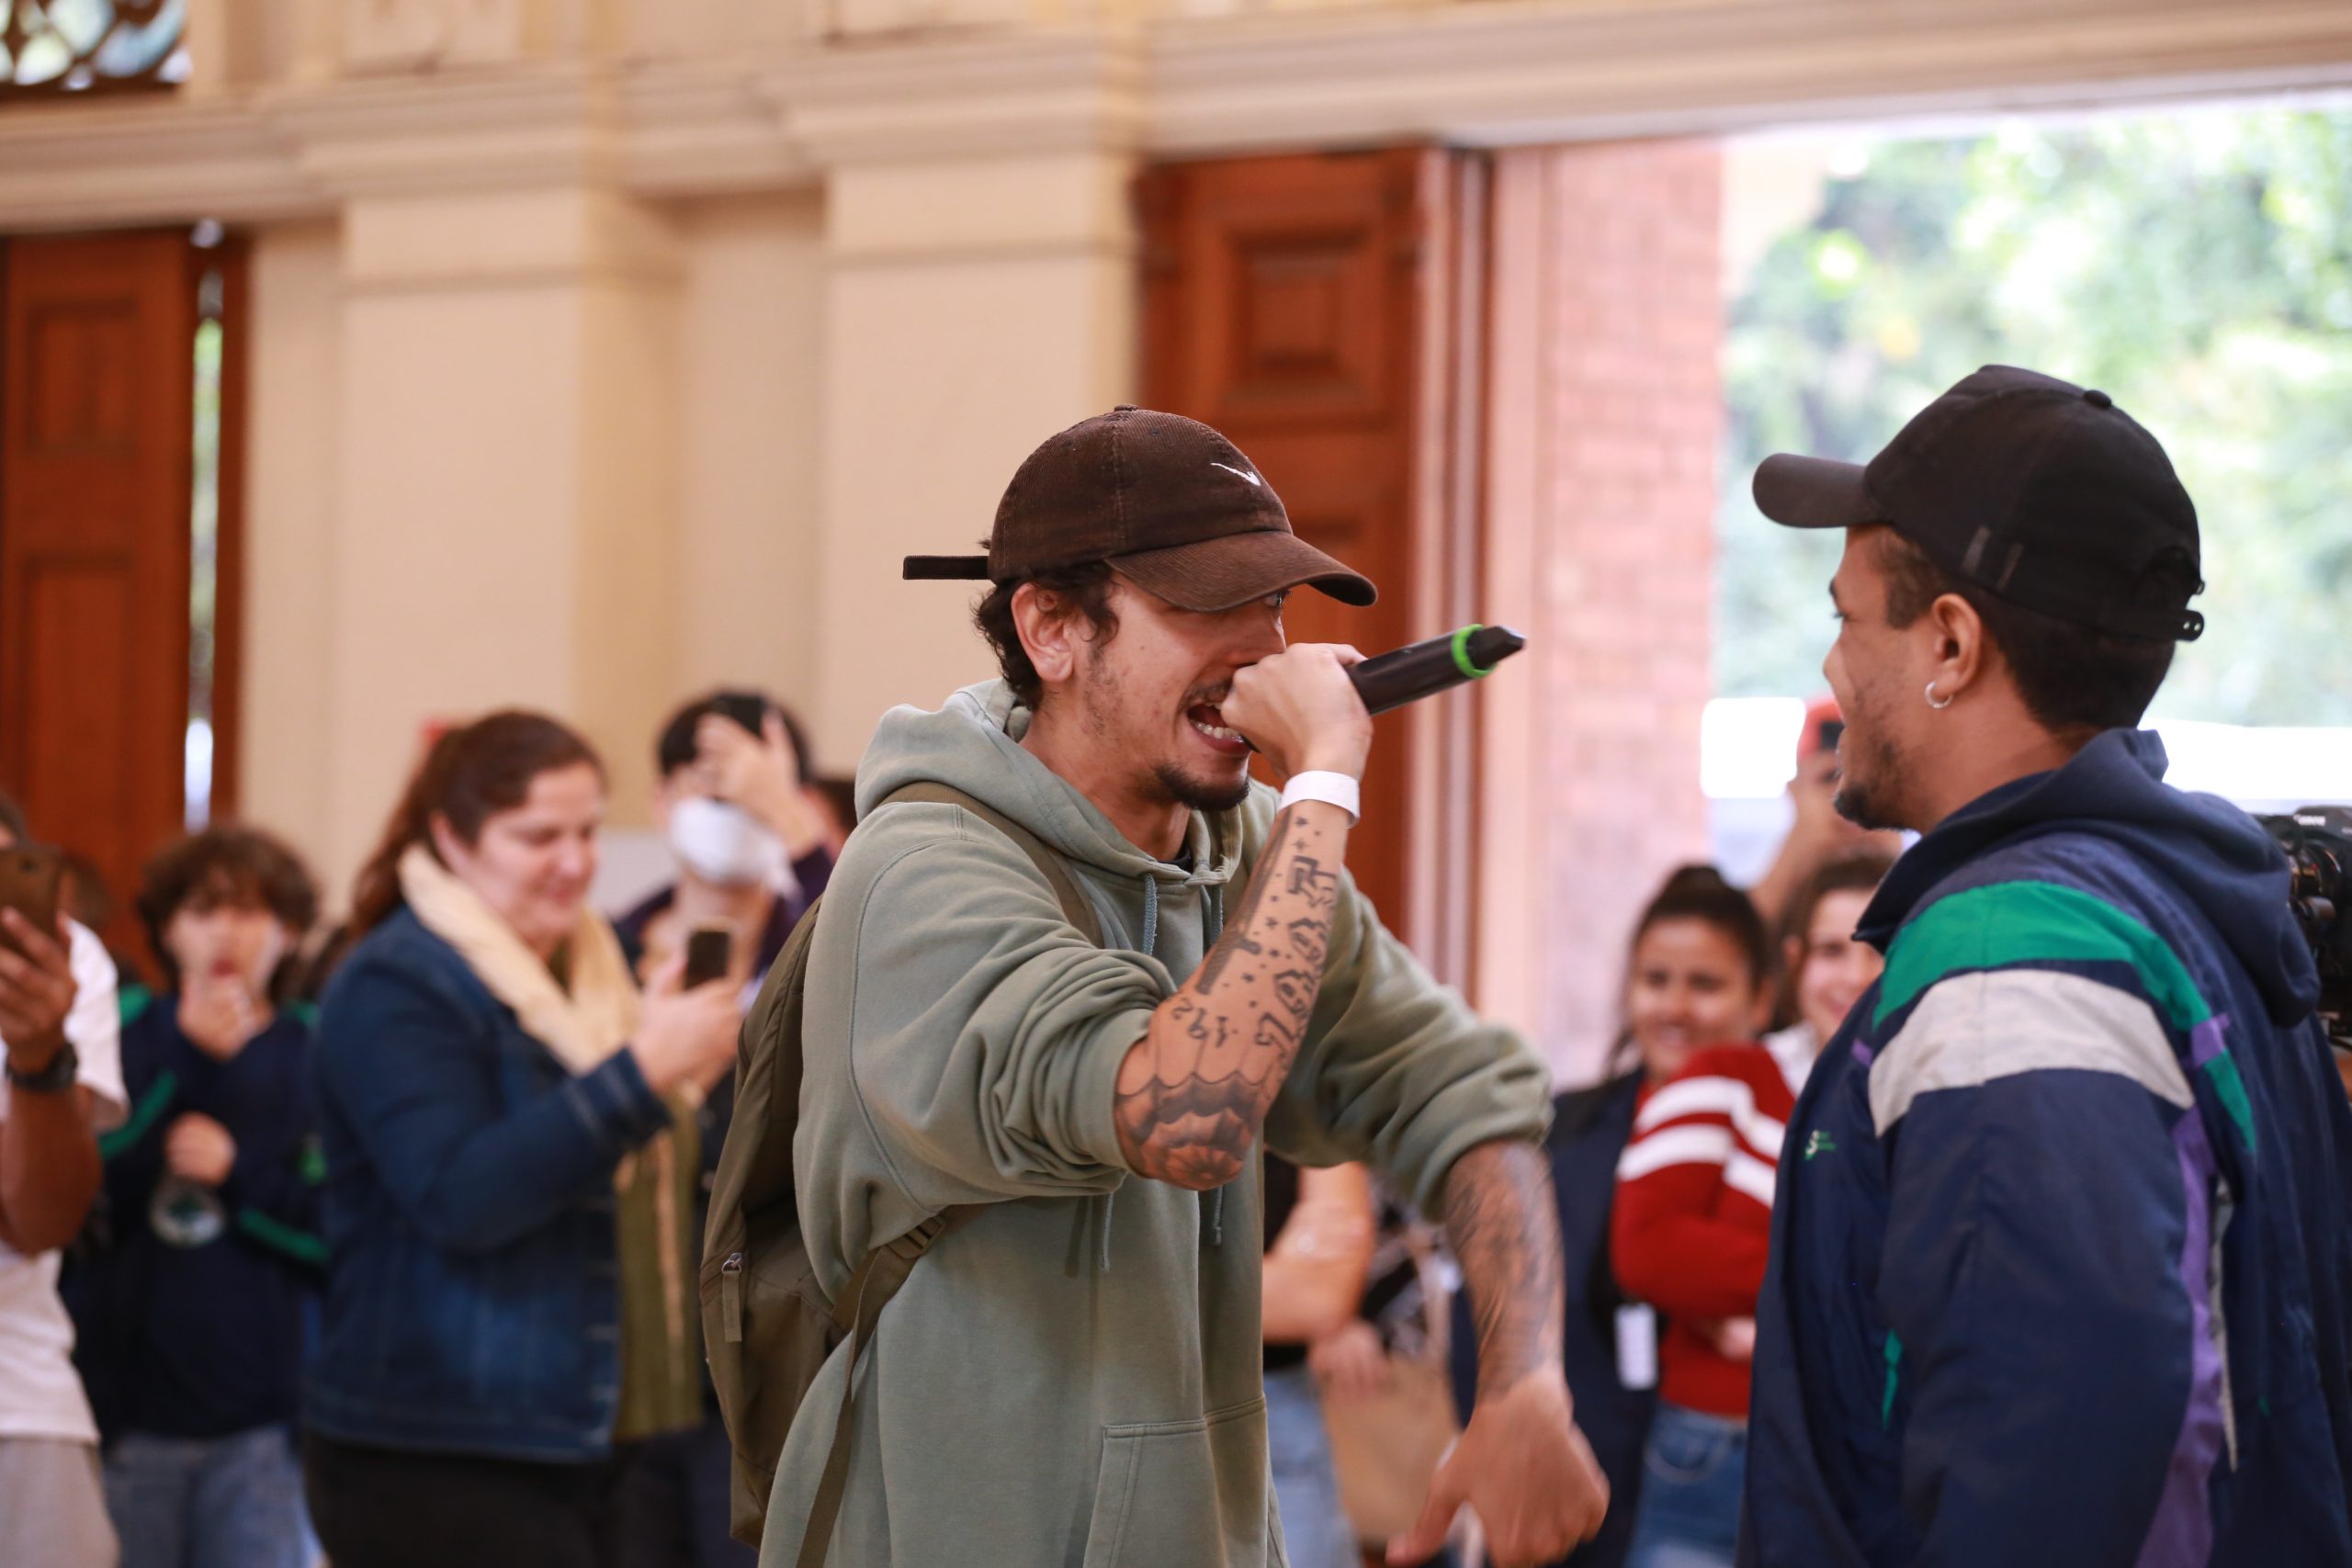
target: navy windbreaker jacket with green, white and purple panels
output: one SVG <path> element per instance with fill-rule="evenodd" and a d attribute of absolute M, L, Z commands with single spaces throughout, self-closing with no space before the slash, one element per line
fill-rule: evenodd
<path fill-rule="evenodd" d="M 2286 865 L 2110 731 L 1926 835 L 1788 1126 L 1743 1568 L 2352 1563 L 2352 1112 Z"/>

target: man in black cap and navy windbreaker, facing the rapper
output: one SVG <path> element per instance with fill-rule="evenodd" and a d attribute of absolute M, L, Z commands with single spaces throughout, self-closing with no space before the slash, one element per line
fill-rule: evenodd
<path fill-rule="evenodd" d="M 1839 809 L 1924 837 L 1785 1133 L 1740 1563 L 2352 1563 L 2352 1114 L 2279 851 L 2136 729 L 2164 449 L 1992 367 L 1755 494 L 1846 531 Z"/>

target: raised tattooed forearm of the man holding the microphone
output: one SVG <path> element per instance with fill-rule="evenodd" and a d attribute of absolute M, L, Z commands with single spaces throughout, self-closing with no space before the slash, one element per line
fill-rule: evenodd
<path fill-rule="evenodd" d="M 1345 844 L 1338 806 L 1284 809 L 1240 912 L 1120 1063 L 1120 1152 L 1138 1175 L 1207 1190 L 1242 1173 L 1322 990 Z"/>

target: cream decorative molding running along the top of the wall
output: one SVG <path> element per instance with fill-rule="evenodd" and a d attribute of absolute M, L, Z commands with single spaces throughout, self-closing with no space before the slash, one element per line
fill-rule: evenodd
<path fill-rule="evenodd" d="M 868 162 L 1503 146 L 2345 85 L 2345 0 L 1458 0 L 969 28 L 9 108 L 0 230 L 550 183 L 680 197 Z"/>

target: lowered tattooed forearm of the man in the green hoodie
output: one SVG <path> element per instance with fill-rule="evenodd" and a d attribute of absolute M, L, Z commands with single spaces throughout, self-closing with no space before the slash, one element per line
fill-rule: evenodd
<path fill-rule="evenodd" d="M 1479 1396 L 1559 1361 L 1559 1208 L 1543 1150 L 1482 1143 L 1446 1173 L 1446 1241 L 1477 1319 Z"/>

